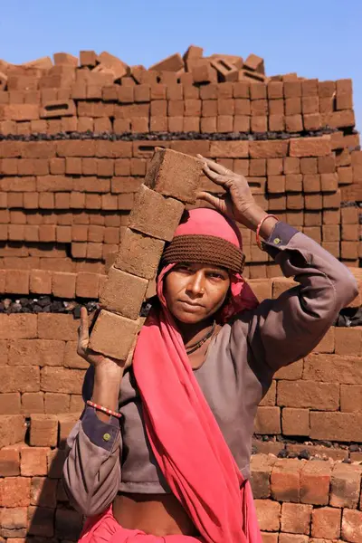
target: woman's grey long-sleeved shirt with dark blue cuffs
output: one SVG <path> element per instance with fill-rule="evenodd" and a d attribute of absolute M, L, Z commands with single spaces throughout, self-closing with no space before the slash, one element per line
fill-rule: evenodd
<path fill-rule="evenodd" d="M 273 374 L 308 355 L 338 311 L 357 296 L 357 283 L 348 268 L 288 224 L 276 224 L 264 248 L 284 275 L 300 284 L 224 324 L 204 364 L 194 370 L 246 479 L 253 420 Z M 90 399 L 92 386 L 90 367 L 83 386 L 85 400 Z M 86 516 L 105 510 L 119 491 L 170 492 L 148 443 L 131 368 L 122 378 L 119 412 L 121 419 L 110 417 L 107 424 L 87 406 L 67 440 L 64 488 L 75 509 Z"/>

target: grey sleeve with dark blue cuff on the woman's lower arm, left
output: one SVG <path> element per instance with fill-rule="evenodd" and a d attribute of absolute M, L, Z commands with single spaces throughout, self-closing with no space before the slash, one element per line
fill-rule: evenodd
<path fill-rule="evenodd" d="M 90 399 L 93 368 L 87 371 L 83 397 Z M 67 439 L 62 481 L 73 507 L 91 517 L 106 510 L 119 491 L 121 435 L 119 419 L 100 421 L 87 406 Z"/>

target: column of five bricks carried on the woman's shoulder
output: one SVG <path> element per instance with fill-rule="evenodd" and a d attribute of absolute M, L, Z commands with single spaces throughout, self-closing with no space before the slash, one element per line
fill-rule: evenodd
<path fill-rule="evenodd" d="M 102 310 L 90 335 L 93 350 L 118 360 L 129 357 L 142 324 L 142 303 L 156 280 L 165 243 L 172 240 L 185 204 L 195 203 L 202 165 L 201 160 L 182 153 L 156 150 L 100 294 Z"/>

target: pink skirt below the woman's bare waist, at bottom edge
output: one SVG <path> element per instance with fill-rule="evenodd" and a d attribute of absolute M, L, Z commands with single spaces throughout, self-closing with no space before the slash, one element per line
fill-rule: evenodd
<path fill-rule="evenodd" d="M 200 543 L 190 536 L 150 536 L 140 529 L 122 528 L 113 517 L 112 506 L 101 515 L 87 519 L 79 543 Z"/>

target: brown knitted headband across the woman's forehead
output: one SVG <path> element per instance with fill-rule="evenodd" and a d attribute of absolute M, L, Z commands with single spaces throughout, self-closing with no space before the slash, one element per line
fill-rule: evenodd
<path fill-rule="evenodd" d="M 214 235 L 177 235 L 162 255 L 162 264 L 197 262 L 242 273 L 245 255 L 223 238 Z"/>

